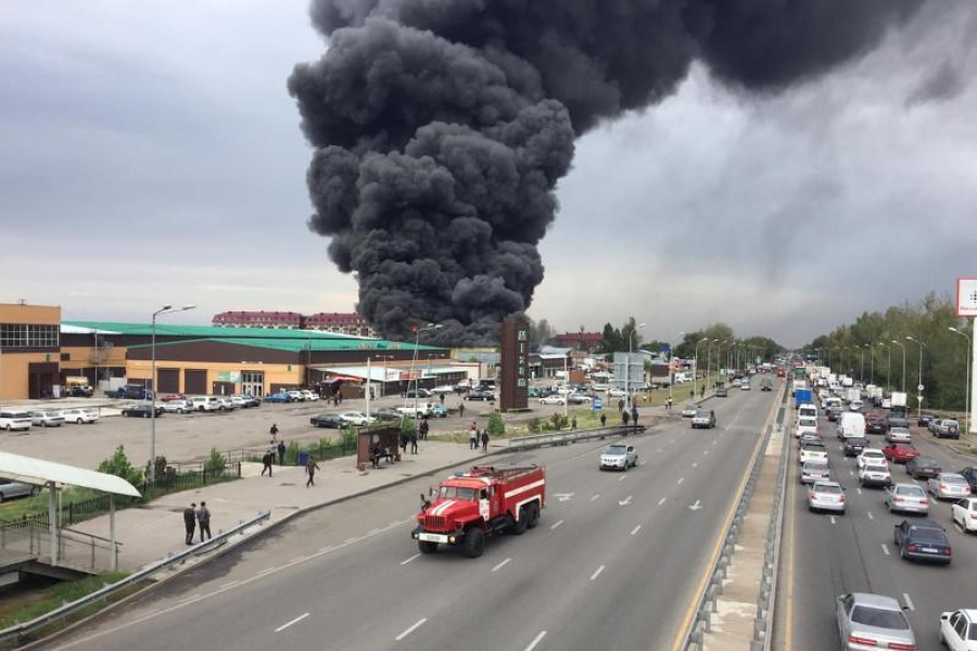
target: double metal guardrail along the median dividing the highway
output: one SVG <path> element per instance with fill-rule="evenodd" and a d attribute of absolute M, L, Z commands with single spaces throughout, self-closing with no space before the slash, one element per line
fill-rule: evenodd
<path fill-rule="evenodd" d="M 683 631 L 682 643 L 678 647 L 683 651 L 701 651 L 703 648 L 703 636 L 706 633 L 709 633 L 710 625 L 710 616 L 715 612 L 715 604 L 719 601 L 719 596 L 722 593 L 723 580 L 726 578 L 726 573 L 729 564 L 732 563 L 733 552 L 735 550 L 736 540 L 739 538 L 739 532 L 743 527 L 743 519 L 746 516 L 749 511 L 750 500 L 753 496 L 753 488 L 757 485 L 757 481 L 760 478 L 760 473 L 763 469 L 763 458 L 764 450 L 770 444 L 770 438 L 773 435 L 775 427 L 783 427 L 783 420 L 786 414 L 786 404 L 788 393 L 786 391 L 786 384 L 781 390 L 783 393 L 781 394 L 781 405 L 782 407 L 778 409 L 777 418 L 775 423 L 769 427 L 763 433 L 763 437 L 760 441 L 760 445 L 757 447 L 754 451 L 753 459 L 751 460 L 751 468 L 749 478 L 746 484 L 744 484 L 743 489 L 739 493 L 738 502 L 736 505 L 736 511 L 733 515 L 729 525 L 726 528 L 726 535 L 723 540 L 722 551 L 716 557 L 715 561 L 712 564 L 712 570 L 709 574 L 709 580 L 706 582 L 706 587 L 702 589 L 702 592 L 698 597 L 697 607 L 696 607 L 696 616 L 693 617 L 691 622 L 689 622 L 686 630 Z M 789 450 L 785 450 L 785 454 L 782 455 L 783 459 L 781 460 L 781 472 L 787 472 L 786 459 L 789 458 Z M 779 481 L 778 476 L 778 481 Z M 782 509 L 783 505 L 783 493 L 778 493 L 777 496 L 774 497 L 775 508 Z M 776 569 L 774 567 L 772 571 L 769 570 L 767 560 L 771 556 L 771 544 L 770 536 L 773 531 L 773 523 L 771 524 L 771 531 L 767 532 L 767 545 L 766 545 L 766 557 L 764 558 L 764 566 L 763 566 L 763 578 L 761 580 L 761 589 L 760 596 L 761 601 L 764 599 L 764 586 L 766 586 L 766 600 L 767 602 L 772 602 L 771 595 L 773 593 L 772 588 L 770 587 L 772 583 L 776 583 Z M 779 534 L 778 534 L 779 536 Z M 777 538 L 779 540 L 779 537 Z M 761 605 L 757 607 L 757 620 L 759 623 L 761 621 L 765 621 L 763 635 L 765 636 L 765 643 L 770 643 L 770 635 L 766 626 L 770 626 L 769 622 L 772 621 L 770 615 L 765 614 L 767 611 L 762 611 Z M 758 626 L 754 623 L 753 626 L 753 638 L 754 640 L 759 637 Z M 758 647 L 756 647 L 756 641 L 750 642 L 750 651 L 757 651 Z M 763 643 L 759 647 L 760 649 L 769 649 L 769 647 L 764 647 Z"/>

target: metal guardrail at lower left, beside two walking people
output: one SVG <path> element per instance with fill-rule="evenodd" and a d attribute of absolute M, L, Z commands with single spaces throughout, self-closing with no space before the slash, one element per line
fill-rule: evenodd
<path fill-rule="evenodd" d="M 29 622 L 23 622 L 21 624 L 15 624 L 9 628 L 4 628 L 3 630 L 0 630 L 0 642 L 14 641 L 14 643 L 20 643 L 25 636 L 36 633 L 37 630 L 40 630 L 45 626 L 53 624 L 54 622 L 59 622 L 61 620 L 69 617 L 93 603 L 104 601 L 119 590 L 129 586 L 134 586 L 139 582 L 145 580 L 161 570 L 185 563 L 190 557 L 194 557 L 226 545 L 231 536 L 243 534 L 244 529 L 252 527 L 255 524 L 259 524 L 265 520 L 268 520 L 269 518 L 271 518 L 271 511 L 262 511 L 255 518 L 246 522 L 241 521 L 236 526 L 226 532 L 217 532 L 217 535 L 210 540 L 198 542 L 196 545 L 189 547 L 186 550 L 180 551 L 179 553 L 170 553 L 165 559 L 157 561 L 151 565 L 144 566 L 138 572 L 125 577 L 124 579 L 104 586 L 103 588 L 96 590 L 94 592 L 87 595 L 81 599 L 72 601 L 71 603 L 66 603 L 61 608 L 58 608 L 49 613 L 45 613 L 39 617 L 30 620 Z"/>

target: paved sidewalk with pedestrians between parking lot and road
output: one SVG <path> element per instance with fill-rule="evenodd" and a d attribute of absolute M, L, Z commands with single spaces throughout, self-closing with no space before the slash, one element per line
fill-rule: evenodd
<path fill-rule="evenodd" d="M 470 450 L 467 444 L 421 441 L 419 455 L 405 455 L 403 461 L 393 465 L 381 463 L 379 470 L 358 472 L 355 457 L 319 462 L 316 485 L 310 488 L 305 487 L 306 475 L 302 467 L 276 465 L 274 477 L 268 478 L 261 476 L 261 463 L 245 463 L 241 469 L 241 480 L 175 493 L 144 507 L 116 513 L 116 535 L 122 542 L 119 569 L 132 571 L 163 559 L 169 552 L 187 549 L 182 511 L 190 502 L 207 502 L 212 514 L 211 528 L 216 534 L 241 520 L 251 520 L 259 511 L 270 509 L 274 523 L 302 509 L 482 457 L 481 452 Z M 246 539 L 267 526 L 252 527 L 237 540 Z M 73 528 L 107 537 L 109 516 L 96 518 Z"/>

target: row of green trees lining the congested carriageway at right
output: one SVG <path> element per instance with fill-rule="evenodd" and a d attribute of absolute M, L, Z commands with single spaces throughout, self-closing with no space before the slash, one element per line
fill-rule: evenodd
<path fill-rule="evenodd" d="M 893 391 L 905 387 L 912 399 L 919 395 L 916 386 L 922 384 L 924 408 L 962 410 L 969 350 L 965 339 L 951 328 L 973 336 L 965 320 L 956 317 L 954 302 L 930 293 L 915 305 L 865 312 L 853 323 L 816 337 L 804 346 L 804 353 L 816 356 L 824 366 L 830 362 L 835 372 L 866 383 Z"/>

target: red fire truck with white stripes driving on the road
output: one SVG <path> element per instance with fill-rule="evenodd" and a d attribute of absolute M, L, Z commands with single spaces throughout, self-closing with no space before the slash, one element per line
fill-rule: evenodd
<path fill-rule="evenodd" d="M 475 465 L 441 482 L 433 502 L 421 500 L 413 533 L 420 552 L 451 545 L 474 559 L 482 556 L 486 536 L 535 528 L 546 506 L 546 469 Z"/>

